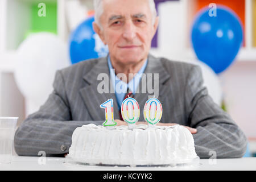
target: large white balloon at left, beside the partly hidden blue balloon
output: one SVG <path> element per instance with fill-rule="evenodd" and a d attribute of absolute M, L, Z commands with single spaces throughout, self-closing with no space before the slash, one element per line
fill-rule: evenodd
<path fill-rule="evenodd" d="M 56 35 L 48 32 L 32 34 L 24 40 L 16 54 L 15 80 L 26 100 L 33 109 L 39 109 L 52 92 L 55 73 L 58 69 L 68 67 L 71 62 L 68 45 Z"/>

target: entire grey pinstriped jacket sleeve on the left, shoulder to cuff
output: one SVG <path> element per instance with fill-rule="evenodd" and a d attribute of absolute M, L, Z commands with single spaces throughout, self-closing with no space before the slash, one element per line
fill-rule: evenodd
<path fill-rule="evenodd" d="M 68 153 L 76 127 L 103 121 L 72 121 L 64 80 L 56 72 L 53 92 L 36 113 L 28 115 L 15 132 L 14 147 L 18 155 L 37 156 L 44 151 L 46 156 Z"/>

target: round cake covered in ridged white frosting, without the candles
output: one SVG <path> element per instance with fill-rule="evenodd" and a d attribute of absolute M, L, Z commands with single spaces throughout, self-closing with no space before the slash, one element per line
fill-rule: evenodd
<path fill-rule="evenodd" d="M 77 127 L 68 156 L 77 162 L 115 165 L 160 165 L 197 157 L 192 134 L 183 126 Z"/>

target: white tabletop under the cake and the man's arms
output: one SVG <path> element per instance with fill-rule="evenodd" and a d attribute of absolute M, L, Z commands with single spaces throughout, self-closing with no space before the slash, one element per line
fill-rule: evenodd
<path fill-rule="evenodd" d="M 214 163 L 216 162 L 216 163 Z M 200 159 L 200 165 L 189 167 L 104 167 L 79 166 L 65 163 L 65 158 L 14 156 L 11 164 L 0 164 L 0 171 L 158 171 L 158 170 L 256 170 L 256 158 L 240 159 Z"/>

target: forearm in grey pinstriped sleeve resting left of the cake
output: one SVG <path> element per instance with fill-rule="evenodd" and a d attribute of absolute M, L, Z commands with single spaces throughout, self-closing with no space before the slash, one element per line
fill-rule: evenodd
<path fill-rule="evenodd" d="M 30 119 L 15 133 L 14 147 L 18 155 L 36 156 L 44 151 L 47 156 L 68 153 L 73 131 L 82 125 L 103 121 L 53 121 Z"/>

